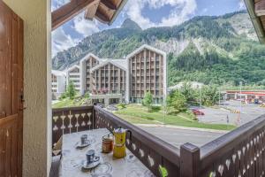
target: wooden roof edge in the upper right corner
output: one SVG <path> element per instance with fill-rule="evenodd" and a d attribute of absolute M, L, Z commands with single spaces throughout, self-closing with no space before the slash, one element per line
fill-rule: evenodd
<path fill-rule="evenodd" d="M 265 43 L 265 0 L 245 0 L 247 12 L 261 43 Z"/>

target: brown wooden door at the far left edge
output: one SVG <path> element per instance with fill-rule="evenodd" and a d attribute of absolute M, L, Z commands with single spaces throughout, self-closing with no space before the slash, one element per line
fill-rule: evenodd
<path fill-rule="evenodd" d="M 0 0 L 0 176 L 22 176 L 23 21 Z"/>

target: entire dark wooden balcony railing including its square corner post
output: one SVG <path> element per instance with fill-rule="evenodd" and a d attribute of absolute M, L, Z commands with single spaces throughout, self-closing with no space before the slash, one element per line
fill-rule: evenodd
<path fill-rule="evenodd" d="M 150 135 L 98 106 L 53 110 L 52 141 L 60 136 L 106 127 L 112 131 L 124 127 L 132 131 L 126 146 L 148 169 L 160 176 L 162 165 L 168 177 L 230 177 L 265 175 L 265 117 L 250 121 L 201 148 L 183 144 L 180 149 Z"/>

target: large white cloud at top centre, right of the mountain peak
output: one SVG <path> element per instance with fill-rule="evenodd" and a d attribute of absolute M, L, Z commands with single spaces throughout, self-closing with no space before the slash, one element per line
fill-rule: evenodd
<path fill-rule="evenodd" d="M 141 12 L 148 5 L 150 9 L 160 9 L 164 5 L 170 5 L 172 10 L 168 17 L 163 17 L 160 22 L 153 22 L 144 17 Z M 178 25 L 192 15 L 197 8 L 195 0 L 129 0 L 125 6 L 125 12 L 129 18 L 136 21 L 140 27 L 163 27 Z"/>

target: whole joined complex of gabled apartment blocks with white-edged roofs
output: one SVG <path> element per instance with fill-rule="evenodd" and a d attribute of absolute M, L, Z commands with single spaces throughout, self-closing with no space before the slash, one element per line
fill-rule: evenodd
<path fill-rule="evenodd" d="M 90 93 L 94 102 L 141 103 L 150 91 L 155 104 L 166 96 L 166 53 L 143 45 L 124 59 L 98 58 L 87 54 L 66 71 L 80 95 Z"/>

